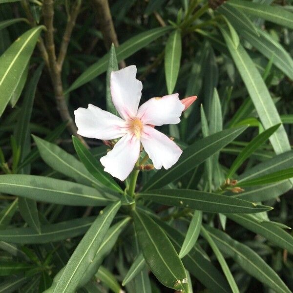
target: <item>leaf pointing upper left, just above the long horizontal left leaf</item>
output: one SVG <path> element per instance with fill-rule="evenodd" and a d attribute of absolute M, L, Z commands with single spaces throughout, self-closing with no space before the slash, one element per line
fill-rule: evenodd
<path fill-rule="evenodd" d="M 99 181 L 92 176 L 73 155 L 67 153 L 61 147 L 49 143 L 33 135 L 42 159 L 54 170 L 73 178 L 76 182 L 89 186 L 100 185 Z"/>

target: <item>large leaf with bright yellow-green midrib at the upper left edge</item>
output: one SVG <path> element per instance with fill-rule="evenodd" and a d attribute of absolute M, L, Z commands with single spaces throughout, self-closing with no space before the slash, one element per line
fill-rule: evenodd
<path fill-rule="evenodd" d="M 29 62 L 42 28 L 28 30 L 0 56 L 0 116 Z"/>

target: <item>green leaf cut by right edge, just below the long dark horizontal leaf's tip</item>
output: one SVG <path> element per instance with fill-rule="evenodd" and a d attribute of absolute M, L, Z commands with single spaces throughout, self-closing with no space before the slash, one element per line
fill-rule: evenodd
<path fill-rule="evenodd" d="M 274 223 L 260 221 L 253 215 L 227 214 L 227 217 L 293 254 L 292 235 L 276 226 Z"/>

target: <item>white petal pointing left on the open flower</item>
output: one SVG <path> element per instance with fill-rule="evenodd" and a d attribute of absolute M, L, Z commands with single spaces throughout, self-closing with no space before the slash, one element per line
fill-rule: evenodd
<path fill-rule="evenodd" d="M 86 108 L 74 111 L 77 133 L 89 138 L 115 139 L 122 137 L 126 131 L 126 122 L 99 107 L 89 104 Z"/>

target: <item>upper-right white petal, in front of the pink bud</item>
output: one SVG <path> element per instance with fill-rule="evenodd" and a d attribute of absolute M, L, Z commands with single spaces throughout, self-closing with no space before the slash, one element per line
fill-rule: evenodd
<path fill-rule="evenodd" d="M 139 107 L 137 117 L 144 124 L 152 124 L 155 126 L 177 124 L 180 122 L 179 117 L 184 107 L 178 98 L 178 94 L 172 94 L 162 98 L 151 98 Z"/>

